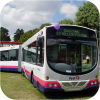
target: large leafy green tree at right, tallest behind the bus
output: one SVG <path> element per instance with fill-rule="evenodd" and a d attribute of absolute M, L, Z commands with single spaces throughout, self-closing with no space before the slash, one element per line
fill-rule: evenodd
<path fill-rule="evenodd" d="M 76 23 L 96 29 L 98 37 L 100 37 L 100 12 L 94 3 L 87 2 L 79 7 L 79 11 L 76 13 Z"/>

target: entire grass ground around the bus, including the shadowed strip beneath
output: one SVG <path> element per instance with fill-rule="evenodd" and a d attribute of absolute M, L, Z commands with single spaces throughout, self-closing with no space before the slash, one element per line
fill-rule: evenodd
<path fill-rule="evenodd" d="M 100 71 L 99 71 L 100 72 Z M 100 86 L 100 73 L 99 73 Z M 89 100 L 97 92 L 49 93 L 44 95 L 22 76 L 21 73 L 0 72 L 0 88 L 11 100 Z"/>

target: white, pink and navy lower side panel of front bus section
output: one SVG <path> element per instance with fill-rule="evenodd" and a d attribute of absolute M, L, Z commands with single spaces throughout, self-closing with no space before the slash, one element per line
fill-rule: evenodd
<path fill-rule="evenodd" d="M 34 85 L 38 88 L 38 89 L 42 89 L 43 90 L 43 86 L 42 86 L 42 72 L 43 72 L 43 67 L 34 65 L 34 64 L 30 64 L 28 62 L 23 62 L 22 63 L 22 72 L 24 73 L 24 75 L 26 76 L 26 78 L 30 81 L 32 81 L 31 79 L 33 78 L 34 80 Z"/>

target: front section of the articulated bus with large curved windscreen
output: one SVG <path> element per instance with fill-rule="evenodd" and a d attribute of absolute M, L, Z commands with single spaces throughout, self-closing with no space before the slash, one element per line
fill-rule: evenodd
<path fill-rule="evenodd" d="M 98 89 L 95 30 L 66 24 L 45 26 L 21 49 L 22 74 L 41 92 Z"/>

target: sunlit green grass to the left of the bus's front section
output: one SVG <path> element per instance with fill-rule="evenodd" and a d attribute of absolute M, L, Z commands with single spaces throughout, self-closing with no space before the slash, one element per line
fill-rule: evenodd
<path fill-rule="evenodd" d="M 0 87 L 3 94 L 12 100 L 41 100 L 45 98 L 19 73 L 0 72 Z"/>

